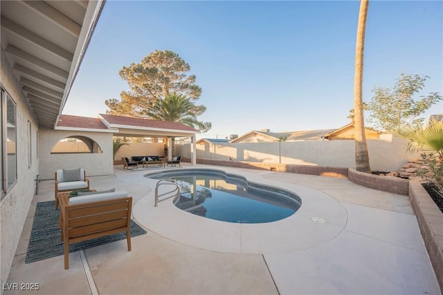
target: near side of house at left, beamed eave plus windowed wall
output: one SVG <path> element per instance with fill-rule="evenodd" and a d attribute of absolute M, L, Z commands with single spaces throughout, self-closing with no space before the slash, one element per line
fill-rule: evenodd
<path fill-rule="evenodd" d="M 2 285 L 35 193 L 35 179 L 45 165 L 42 136 L 50 137 L 57 125 L 104 3 L 0 3 Z"/>

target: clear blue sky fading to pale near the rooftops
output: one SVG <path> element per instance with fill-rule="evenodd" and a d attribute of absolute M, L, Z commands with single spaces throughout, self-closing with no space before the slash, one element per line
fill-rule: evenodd
<path fill-rule="evenodd" d="M 105 113 L 128 90 L 123 66 L 172 50 L 202 88 L 199 120 L 213 124 L 197 138 L 340 128 L 354 104 L 358 15 L 358 0 L 108 0 L 63 113 Z M 419 95 L 443 93 L 442 19 L 442 1 L 370 1 L 365 102 L 400 73 L 430 77 Z M 442 102 L 424 117 L 437 113 Z"/>

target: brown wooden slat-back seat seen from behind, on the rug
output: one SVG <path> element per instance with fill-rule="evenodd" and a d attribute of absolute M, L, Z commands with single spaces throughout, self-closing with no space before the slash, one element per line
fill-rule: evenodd
<path fill-rule="evenodd" d="M 60 196 L 60 208 L 64 269 L 69 269 L 69 245 L 74 242 L 126 232 L 127 251 L 131 251 L 132 197 L 126 191 L 73 198 L 64 193 Z"/>

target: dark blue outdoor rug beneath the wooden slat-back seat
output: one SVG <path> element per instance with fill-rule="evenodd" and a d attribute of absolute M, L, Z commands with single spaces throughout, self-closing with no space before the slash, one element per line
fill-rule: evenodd
<path fill-rule="evenodd" d="M 57 229 L 60 209 L 55 209 L 55 201 L 38 202 L 35 209 L 33 229 L 30 232 L 25 263 L 51 258 L 64 254 L 64 244 Z M 131 237 L 146 234 L 145 229 L 131 220 Z M 99 245 L 126 239 L 126 233 L 118 233 L 69 245 L 69 252 L 88 249 Z"/>

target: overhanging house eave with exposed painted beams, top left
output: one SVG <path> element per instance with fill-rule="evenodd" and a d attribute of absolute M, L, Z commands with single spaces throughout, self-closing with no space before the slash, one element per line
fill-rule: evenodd
<path fill-rule="evenodd" d="M 0 3 L 1 61 L 12 66 L 38 125 L 53 129 L 105 0 Z"/>

